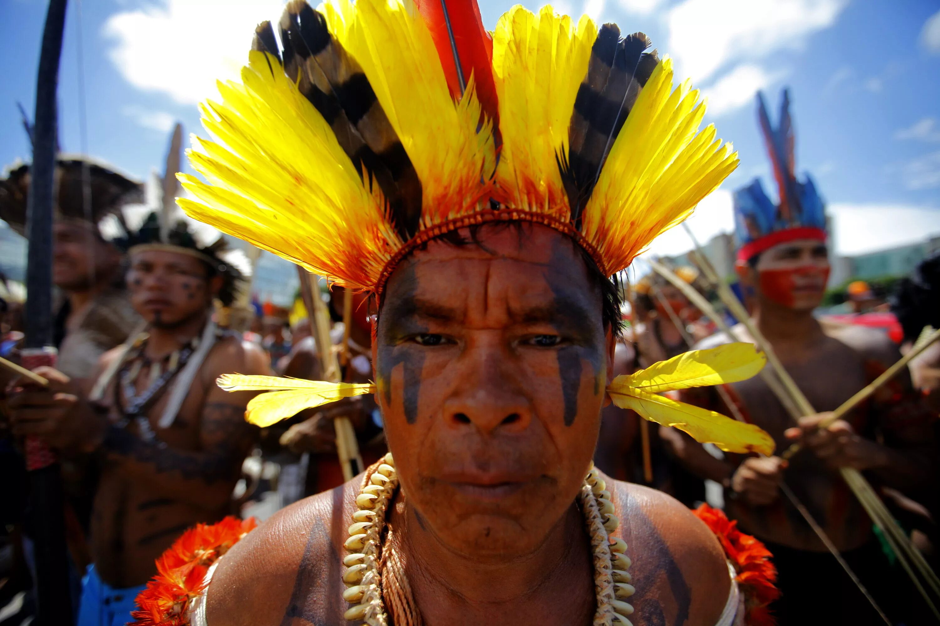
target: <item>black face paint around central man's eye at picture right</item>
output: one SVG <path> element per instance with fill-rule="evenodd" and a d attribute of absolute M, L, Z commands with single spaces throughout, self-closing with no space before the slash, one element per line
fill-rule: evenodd
<path fill-rule="evenodd" d="M 570 310 L 565 302 L 578 301 L 579 293 L 568 287 L 567 282 L 561 280 L 564 276 L 561 267 L 571 263 L 571 258 L 561 255 L 558 251 L 552 255 L 546 280 L 549 288 L 555 295 L 556 325 L 558 332 L 572 334 L 573 343 L 557 350 L 558 377 L 560 378 L 561 393 L 565 401 L 564 420 L 566 426 L 574 423 L 578 414 L 578 392 L 581 390 L 582 360 L 587 360 L 594 371 L 594 395 L 600 392 L 601 351 L 597 348 L 596 333 L 591 330 L 591 320 Z M 557 277 L 557 278 L 556 278 Z M 598 310 L 600 314 L 600 310 Z M 560 328 L 558 328 L 560 327 Z"/>

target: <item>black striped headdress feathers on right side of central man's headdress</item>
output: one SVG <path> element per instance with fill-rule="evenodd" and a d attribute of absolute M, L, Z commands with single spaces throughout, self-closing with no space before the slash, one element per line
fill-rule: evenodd
<path fill-rule="evenodd" d="M 614 139 L 659 63 L 656 51 L 646 52 L 650 45 L 643 33 L 621 39 L 617 25 L 608 23 L 591 48 L 574 100 L 568 154 L 558 159 L 576 228 Z"/>

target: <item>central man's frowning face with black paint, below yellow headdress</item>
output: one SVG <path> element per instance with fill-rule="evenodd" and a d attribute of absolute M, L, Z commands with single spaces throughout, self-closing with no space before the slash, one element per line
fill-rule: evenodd
<path fill-rule="evenodd" d="M 399 267 L 379 314 L 377 399 L 404 491 L 463 554 L 535 550 L 593 455 L 613 337 L 584 263 L 553 235 L 514 250 L 504 232 L 489 241 L 500 254 L 450 258 L 434 242 Z"/>

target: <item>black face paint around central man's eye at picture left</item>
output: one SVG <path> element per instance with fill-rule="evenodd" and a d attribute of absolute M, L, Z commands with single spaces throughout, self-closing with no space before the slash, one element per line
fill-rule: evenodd
<path fill-rule="evenodd" d="M 417 278 L 414 265 L 402 267 L 401 276 L 396 280 L 394 302 L 386 302 L 386 314 L 380 316 L 376 363 L 376 384 L 384 394 L 385 403 L 391 402 L 392 370 L 402 365 L 402 403 L 405 420 L 414 424 L 417 420 L 417 400 L 421 391 L 421 370 L 424 368 L 424 351 L 418 344 L 399 343 L 399 338 L 420 332 L 428 328 L 409 319 L 415 313 L 415 293 Z M 400 295 L 399 295 L 400 294 Z M 383 323 L 384 320 L 389 320 Z"/>

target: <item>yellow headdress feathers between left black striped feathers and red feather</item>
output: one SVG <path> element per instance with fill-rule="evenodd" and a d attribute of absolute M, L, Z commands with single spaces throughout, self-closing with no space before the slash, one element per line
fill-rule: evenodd
<path fill-rule="evenodd" d="M 431 32 L 411 0 L 333 0 L 330 31 L 362 66 L 421 180 L 422 227 L 476 209 L 493 175 L 492 126 L 468 88 L 455 103 Z M 483 198 L 485 199 L 485 198 Z"/>

